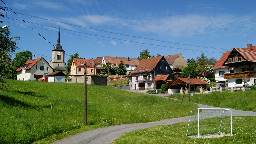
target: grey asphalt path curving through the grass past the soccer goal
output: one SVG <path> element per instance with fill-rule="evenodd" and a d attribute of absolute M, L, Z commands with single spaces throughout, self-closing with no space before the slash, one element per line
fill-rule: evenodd
<path fill-rule="evenodd" d="M 158 94 L 157 94 L 158 95 Z M 164 97 L 166 94 L 159 94 Z M 168 94 L 167 94 L 168 95 Z M 197 104 L 200 108 L 218 108 L 202 104 Z M 242 111 L 232 109 L 232 116 L 256 116 L 256 112 Z M 81 132 L 79 134 L 55 141 L 52 144 L 109 144 L 121 135 L 134 130 L 154 127 L 157 125 L 170 125 L 180 122 L 188 122 L 189 116 L 164 119 L 156 122 L 138 123 L 138 124 L 122 124 L 116 126 L 108 126 Z"/>

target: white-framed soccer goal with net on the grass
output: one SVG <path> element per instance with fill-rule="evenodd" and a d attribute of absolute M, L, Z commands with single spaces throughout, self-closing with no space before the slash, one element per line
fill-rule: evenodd
<path fill-rule="evenodd" d="M 186 136 L 232 135 L 231 108 L 198 108 L 191 111 Z"/>

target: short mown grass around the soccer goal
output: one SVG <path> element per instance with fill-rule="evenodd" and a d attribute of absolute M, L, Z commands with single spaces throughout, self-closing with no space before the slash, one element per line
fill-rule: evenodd
<path fill-rule="evenodd" d="M 117 138 L 113 144 L 255 144 L 256 116 L 233 116 L 233 136 L 195 139 L 186 136 L 188 122 L 160 125 L 128 132 Z M 211 119 L 207 121 L 212 122 Z"/>

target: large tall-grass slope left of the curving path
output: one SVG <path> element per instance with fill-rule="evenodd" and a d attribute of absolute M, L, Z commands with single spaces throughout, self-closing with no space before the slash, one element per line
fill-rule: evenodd
<path fill-rule="evenodd" d="M 9 90 L 0 90 L 1 144 L 50 143 L 99 127 L 188 116 L 191 110 L 187 102 L 87 85 L 84 124 L 84 84 L 16 80 L 5 84 Z"/>

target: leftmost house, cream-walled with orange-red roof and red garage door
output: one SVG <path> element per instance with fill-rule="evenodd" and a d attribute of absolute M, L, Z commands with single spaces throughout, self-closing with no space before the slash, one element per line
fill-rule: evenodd
<path fill-rule="evenodd" d="M 54 70 L 50 66 L 50 64 L 43 58 L 37 58 L 28 60 L 23 65 L 20 66 L 16 70 L 17 72 L 17 80 L 25 80 L 25 78 L 29 78 L 32 80 L 33 78 L 42 78 L 43 76 L 47 76 L 52 73 Z"/>

